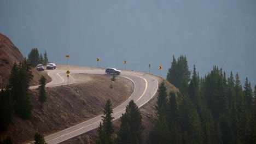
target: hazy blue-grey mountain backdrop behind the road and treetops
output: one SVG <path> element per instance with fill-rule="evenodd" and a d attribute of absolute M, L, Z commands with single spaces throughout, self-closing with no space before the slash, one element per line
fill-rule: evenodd
<path fill-rule="evenodd" d="M 7 1 L 0 33 L 27 57 L 32 47 L 50 62 L 115 67 L 166 78 L 172 56 L 186 55 L 204 76 L 213 65 L 256 84 L 256 1 Z"/>

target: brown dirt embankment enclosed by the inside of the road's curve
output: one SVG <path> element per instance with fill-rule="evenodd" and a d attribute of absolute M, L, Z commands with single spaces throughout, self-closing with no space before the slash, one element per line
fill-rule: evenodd
<path fill-rule="evenodd" d="M 113 107 L 123 103 L 133 92 L 133 83 L 124 77 L 115 82 L 104 75 L 72 74 L 80 83 L 46 88 L 46 103 L 40 105 L 38 90 L 30 91 L 33 105 L 32 118 L 23 120 L 14 116 L 13 124 L 0 136 L 10 135 L 15 143 L 33 140 L 35 131 L 44 136 L 71 127 L 92 117 L 101 115 L 106 101 Z M 112 84 L 113 88 L 110 88 Z"/>

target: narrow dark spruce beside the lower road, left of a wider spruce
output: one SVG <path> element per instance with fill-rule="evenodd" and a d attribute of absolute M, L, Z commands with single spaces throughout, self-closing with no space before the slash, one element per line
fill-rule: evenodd
<path fill-rule="evenodd" d="M 111 101 L 108 99 L 107 103 L 104 107 L 103 110 L 103 116 L 102 117 L 102 128 L 104 131 L 104 136 L 106 139 L 104 139 L 105 141 L 101 141 L 102 143 L 113 143 L 113 139 L 112 139 L 112 134 L 114 132 L 114 128 L 113 128 L 113 124 L 112 124 L 112 120 L 114 119 L 114 117 L 112 117 L 112 103 Z"/>

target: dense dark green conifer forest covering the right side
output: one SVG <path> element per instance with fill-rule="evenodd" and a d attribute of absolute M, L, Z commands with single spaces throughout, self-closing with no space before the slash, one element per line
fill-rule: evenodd
<path fill-rule="evenodd" d="M 256 143 L 256 86 L 238 74 L 228 78 L 213 66 L 200 78 L 195 65 L 190 78 L 187 58 L 173 56 L 167 81 L 180 93 L 158 89 L 158 122 L 149 143 Z M 176 95 L 176 96 L 175 96 Z M 176 98 L 179 97 L 179 101 Z"/>

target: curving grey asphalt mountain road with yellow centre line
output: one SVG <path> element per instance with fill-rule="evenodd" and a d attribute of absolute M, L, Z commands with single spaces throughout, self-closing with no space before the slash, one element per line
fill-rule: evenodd
<path fill-rule="evenodd" d="M 53 79 L 50 83 L 46 84 L 46 87 L 54 87 L 54 86 L 61 86 L 67 85 L 67 70 L 49 70 L 50 72 L 48 75 Z M 105 75 L 105 71 L 103 69 L 93 69 L 93 70 L 86 70 L 86 69 L 73 69 L 69 70 L 71 74 L 69 74 L 68 83 L 75 83 L 75 79 L 72 77 L 74 73 L 88 73 L 88 74 L 102 74 Z M 134 100 L 138 107 L 143 106 L 146 104 L 157 92 L 158 90 L 158 78 L 156 76 L 136 72 L 136 71 L 121 71 L 119 76 L 126 77 L 130 79 L 134 85 L 134 91 L 132 95 L 121 105 L 115 107 L 113 109 L 113 115 L 115 119 L 121 117 L 122 113 L 125 113 L 126 105 L 130 102 L 130 100 Z M 30 87 L 37 88 L 38 86 Z M 73 127 L 67 128 L 65 130 L 59 131 L 55 134 L 49 135 L 45 137 L 45 141 L 49 144 L 51 143 L 60 143 L 71 139 L 72 137 L 81 135 L 95 129 L 100 125 L 101 116 L 97 116 L 95 118 L 89 119 L 83 123 L 74 125 Z"/>

